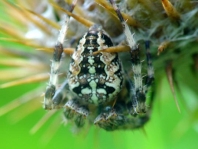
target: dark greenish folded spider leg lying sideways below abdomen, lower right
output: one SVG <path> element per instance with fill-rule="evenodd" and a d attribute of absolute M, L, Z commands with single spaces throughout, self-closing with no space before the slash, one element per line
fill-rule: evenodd
<path fill-rule="evenodd" d="M 142 115 L 133 116 L 129 114 L 130 105 L 125 102 L 119 102 L 115 108 L 106 107 L 105 111 L 98 115 L 94 124 L 107 131 L 119 129 L 137 129 L 148 122 L 150 112 Z"/>

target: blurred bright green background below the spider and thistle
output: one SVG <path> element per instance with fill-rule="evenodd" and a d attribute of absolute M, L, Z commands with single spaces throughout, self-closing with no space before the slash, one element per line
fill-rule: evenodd
<path fill-rule="evenodd" d="M 181 103 L 181 113 L 178 112 L 166 78 L 162 80 L 160 93 L 157 94 L 154 102 L 151 120 L 144 129 L 106 132 L 93 126 L 90 130 L 84 130 L 75 135 L 71 132 L 70 126 L 60 125 L 57 132 L 53 134 L 54 130 L 49 130 L 53 122 L 49 121 L 36 134 L 32 135 L 30 134 L 31 128 L 46 111 L 42 109 L 41 105 L 40 110 L 17 121 L 14 116 L 17 116 L 17 111 L 25 107 L 21 106 L 0 117 L 0 148 L 195 149 L 198 145 L 196 126 L 190 122 L 189 113 L 186 112 Z M 0 89 L 0 106 L 37 85 L 39 84 Z M 186 92 L 186 96 L 194 98 L 190 91 Z M 61 117 L 61 114 L 56 116 Z M 53 134 L 52 138 L 50 132 Z"/>

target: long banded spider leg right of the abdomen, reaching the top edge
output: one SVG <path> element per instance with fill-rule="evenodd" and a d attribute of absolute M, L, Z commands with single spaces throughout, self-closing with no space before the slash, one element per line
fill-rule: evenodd
<path fill-rule="evenodd" d="M 136 115 L 137 113 L 145 112 L 145 92 L 143 89 L 143 83 L 142 83 L 142 75 L 141 75 L 141 61 L 140 61 L 140 50 L 139 46 L 136 43 L 135 39 L 133 38 L 133 34 L 131 33 L 129 26 L 124 21 L 124 18 L 119 10 L 119 8 L 116 6 L 115 2 L 113 0 L 109 0 L 112 4 L 115 12 L 117 13 L 118 18 L 120 19 L 120 22 L 122 23 L 123 30 L 128 42 L 128 45 L 130 47 L 130 54 L 131 54 L 131 62 L 132 62 L 132 71 L 134 74 L 134 83 L 131 83 L 131 99 L 132 99 L 132 114 Z"/>

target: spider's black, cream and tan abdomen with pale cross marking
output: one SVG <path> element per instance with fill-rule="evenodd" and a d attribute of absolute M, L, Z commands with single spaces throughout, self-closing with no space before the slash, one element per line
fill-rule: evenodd
<path fill-rule="evenodd" d="M 123 82 L 117 53 L 95 51 L 113 46 L 111 39 L 95 26 L 80 39 L 69 67 L 69 89 L 85 102 L 101 104 L 116 98 Z"/>

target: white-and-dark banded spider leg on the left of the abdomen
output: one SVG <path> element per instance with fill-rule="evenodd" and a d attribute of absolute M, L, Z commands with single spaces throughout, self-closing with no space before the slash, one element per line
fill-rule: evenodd
<path fill-rule="evenodd" d="M 71 5 L 70 12 L 73 11 L 76 3 L 77 3 L 77 0 L 74 0 Z M 67 34 L 69 20 L 70 20 L 70 17 L 65 16 L 64 24 L 61 27 L 58 40 L 54 48 L 54 54 L 53 54 L 53 59 L 52 59 L 52 64 L 51 64 L 50 80 L 49 80 L 49 84 L 47 86 L 45 97 L 44 97 L 44 105 L 43 105 L 44 109 L 50 110 L 50 109 L 54 109 L 57 107 L 54 105 L 52 98 L 57 89 L 59 67 L 61 64 L 61 57 L 63 53 L 63 43 L 65 40 L 65 36 Z"/>

